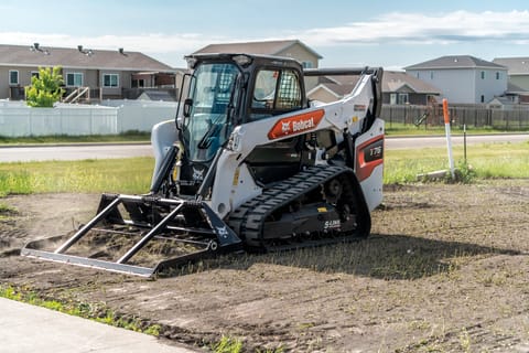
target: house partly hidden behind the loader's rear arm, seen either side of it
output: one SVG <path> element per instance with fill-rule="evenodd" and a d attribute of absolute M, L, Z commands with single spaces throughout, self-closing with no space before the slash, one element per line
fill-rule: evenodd
<path fill-rule="evenodd" d="M 309 98 L 320 101 L 333 101 L 349 94 L 359 76 L 324 76 L 319 85 L 311 89 Z M 382 76 L 384 104 L 428 105 L 436 101 L 440 89 L 403 72 L 385 71 Z"/>

